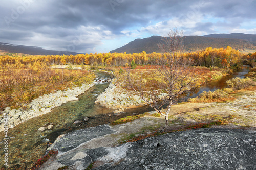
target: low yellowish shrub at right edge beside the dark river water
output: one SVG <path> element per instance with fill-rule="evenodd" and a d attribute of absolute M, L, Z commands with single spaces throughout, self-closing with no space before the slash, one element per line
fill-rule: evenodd
<path fill-rule="evenodd" d="M 239 77 L 228 80 L 227 84 L 233 90 L 246 89 L 251 86 L 256 86 L 256 82 L 254 82 L 252 79 L 250 78 L 240 79 Z"/>

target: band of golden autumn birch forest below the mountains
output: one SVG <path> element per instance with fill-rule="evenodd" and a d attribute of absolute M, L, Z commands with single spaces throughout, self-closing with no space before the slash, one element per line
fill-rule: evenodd
<path fill-rule="evenodd" d="M 137 65 L 155 65 L 157 60 L 163 57 L 162 53 L 95 53 L 95 54 L 77 54 L 77 55 L 48 55 L 48 56 L 9 56 L 0 57 L 1 68 L 25 68 L 35 62 L 46 65 L 90 65 L 90 66 L 125 66 L 130 65 L 134 60 Z M 254 60 L 256 52 L 253 54 L 242 54 L 238 50 L 227 48 L 208 47 L 203 51 L 177 53 L 184 59 L 194 61 L 194 66 L 204 67 L 233 67 L 237 66 L 241 59 Z"/>

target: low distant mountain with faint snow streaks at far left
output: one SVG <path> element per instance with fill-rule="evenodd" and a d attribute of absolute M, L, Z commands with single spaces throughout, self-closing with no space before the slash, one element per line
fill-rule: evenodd
<path fill-rule="evenodd" d="M 23 53 L 30 55 L 76 55 L 75 52 L 66 51 L 56 51 L 56 50 L 46 50 L 37 46 L 24 46 L 24 45 L 13 45 L 8 43 L 0 42 L 0 51 L 5 53 Z"/>

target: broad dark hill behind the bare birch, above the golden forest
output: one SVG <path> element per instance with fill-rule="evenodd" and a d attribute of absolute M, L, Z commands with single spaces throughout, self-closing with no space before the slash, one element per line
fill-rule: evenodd
<path fill-rule="evenodd" d="M 149 38 L 135 39 L 128 44 L 110 51 L 111 53 L 141 53 L 143 51 L 147 53 L 161 52 L 158 45 L 164 42 L 161 36 L 152 36 Z M 206 36 L 185 36 L 184 47 L 182 51 L 195 51 L 204 50 L 207 47 L 212 48 L 226 48 L 230 46 L 232 48 L 242 50 L 244 48 L 250 48 L 256 50 L 256 42 L 248 42 L 241 39 L 231 38 L 212 38 Z"/>

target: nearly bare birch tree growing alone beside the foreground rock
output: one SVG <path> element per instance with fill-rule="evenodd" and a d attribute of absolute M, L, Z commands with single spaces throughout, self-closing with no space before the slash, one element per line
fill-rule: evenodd
<path fill-rule="evenodd" d="M 177 53 L 182 48 L 183 40 L 183 31 L 177 28 L 170 30 L 168 37 L 158 45 L 163 53 L 154 69 L 137 74 L 129 69 L 126 71 L 128 86 L 165 117 L 162 131 L 168 127 L 169 114 L 178 96 L 194 88 L 198 79 L 196 69 L 191 67 L 193 60 Z M 167 106 L 165 111 L 163 106 Z"/>

